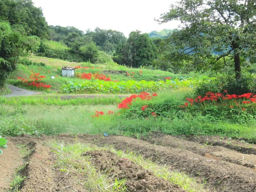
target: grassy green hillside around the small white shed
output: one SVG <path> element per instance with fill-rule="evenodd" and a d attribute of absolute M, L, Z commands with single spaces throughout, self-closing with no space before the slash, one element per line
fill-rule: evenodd
<path fill-rule="evenodd" d="M 17 77 L 21 78 L 29 78 L 32 71 L 34 73 L 40 73 L 40 75 L 45 75 L 44 83 L 47 85 L 51 85 L 51 90 L 59 90 L 62 85 L 66 85 L 69 81 L 82 83 L 86 81 L 86 79 L 80 79 L 77 77 L 74 78 L 66 78 L 62 77 L 61 67 L 63 66 L 81 66 L 81 67 L 89 67 L 88 69 L 76 69 L 75 75 L 79 73 L 92 73 L 92 74 L 105 74 L 106 76 L 110 76 L 112 81 L 159 81 L 165 80 L 166 77 L 170 77 L 170 79 L 179 78 L 182 74 L 173 74 L 167 71 L 161 70 L 150 70 L 150 69 L 133 69 L 126 66 L 118 65 L 112 61 L 106 62 L 104 64 L 91 64 L 89 62 L 76 63 L 76 62 L 68 62 L 61 59 L 53 59 L 46 57 L 37 57 L 31 56 L 30 58 L 34 62 L 43 62 L 45 66 L 36 66 L 36 65 L 22 65 L 18 64 L 17 69 L 10 75 L 8 79 L 8 83 L 12 85 L 19 86 L 20 80 Z M 140 73 L 141 71 L 141 73 Z M 134 73 L 134 74 L 133 74 Z M 196 73 L 190 74 L 191 77 L 202 76 Z M 54 76 L 55 79 L 51 79 L 50 77 Z M 184 76 L 184 75 L 183 75 Z"/>

